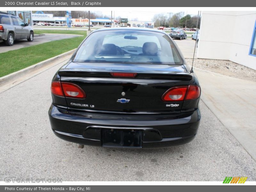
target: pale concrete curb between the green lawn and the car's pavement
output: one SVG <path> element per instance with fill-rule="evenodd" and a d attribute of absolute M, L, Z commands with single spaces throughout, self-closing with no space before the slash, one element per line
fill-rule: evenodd
<path fill-rule="evenodd" d="M 31 65 L 27 68 L 24 68 L 24 69 L 21 69 L 19 71 L 16 71 L 16 72 L 13 72 L 9 75 L 6 75 L 6 76 L 3 76 L 3 77 L 0 77 L 0 84 L 4 84 L 4 83 L 7 83 L 8 81 L 10 80 L 13 80 L 14 78 L 16 77 L 20 77 L 20 76 L 24 76 L 24 75 L 27 75 L 28 73 L 31 73 L 33 71 L 36 71 L 42 67 L 45 67 L 49 64 L 51 64 L 52 62 L 54 62 L 55 60 L 58 60 L 60 59 L 61 57 L 65 56 L 65 55 L 68 55 L 72 52 L 74 52 L 76 49 L 73 49 L 73 50 L 70 50 L 68 52 L 65 52 L 65 53 L 62 53 L 60 55 L 57 55 L 55 57 L 52 57 L 50 59 L 47 59 L 47 60 L 44 60 L 44 61 L 41 61 L 39 63 L 36 63 L 34 65 Z"/>

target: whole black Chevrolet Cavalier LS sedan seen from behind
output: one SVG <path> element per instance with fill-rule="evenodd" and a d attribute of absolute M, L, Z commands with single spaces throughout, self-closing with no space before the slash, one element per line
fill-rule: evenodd
<path fill-rule="evenodd" d="M 52 79 L 49 117 L 61 139 L 115 148 L 191 141 L 200 122 L 195 73 L 165 32 L 93 31 Z"/>

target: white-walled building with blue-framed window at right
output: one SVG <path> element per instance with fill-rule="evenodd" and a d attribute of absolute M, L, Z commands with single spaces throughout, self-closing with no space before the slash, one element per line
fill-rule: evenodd
<path fill-rule="evenodd" d="M 197 58 L 256 70 L 256 11 L 203 11 Z"/>

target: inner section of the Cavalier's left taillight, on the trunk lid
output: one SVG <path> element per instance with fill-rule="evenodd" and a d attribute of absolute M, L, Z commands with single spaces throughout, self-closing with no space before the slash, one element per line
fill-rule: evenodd
<path fill-rule="evenodd" d="M 66 97 L 73 97 L 84 99 L 86 97 L 85 92 L 76 84 L 61 82 L 63 92 Z"/>

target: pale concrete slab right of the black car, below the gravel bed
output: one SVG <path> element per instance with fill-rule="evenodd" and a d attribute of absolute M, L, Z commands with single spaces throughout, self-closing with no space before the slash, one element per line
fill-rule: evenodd
<path fill-rule="evenodd" d="M 194 71 L 201 85 L 201 99 L 256 160 L 256 82 L 198 68 Z"/>

